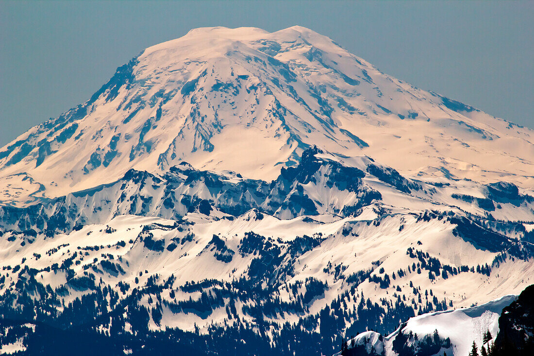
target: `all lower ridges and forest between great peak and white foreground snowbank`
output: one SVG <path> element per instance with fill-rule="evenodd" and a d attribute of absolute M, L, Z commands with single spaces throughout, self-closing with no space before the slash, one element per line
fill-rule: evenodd
<path fill-rule="evenodd" d="M 314 147 L 271 182 L 183 163 L 3 206 L 0 343 L 333 354 L 367 328 L 386 335 L 531 284 L 530 194 L 407 179 Z"/>

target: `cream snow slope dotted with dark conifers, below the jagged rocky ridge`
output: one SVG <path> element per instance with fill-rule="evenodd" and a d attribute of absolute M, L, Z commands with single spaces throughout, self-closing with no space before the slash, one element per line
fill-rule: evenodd
<path fill-rule="evenodd" d="M 371 205 L 346 218 L 281 220 L 251 210 L 214 219 L 192 212 L 179 221 L 120 215 L 53 236 L 5 231 L 0 307 L 6 313 L 11 304 L 5 301 L 27 296 L 46 310 L 58 298 L 54 309 L 66 312 L 62 304 L 85 296 L 105 303 L 90 314 L 96 319 L 136 295 L 133 305 L 152 315 L 146 321 L 151 330 L 199 328 L 204 334 L 226 323 L 300 323 L 329 306 L 349 312 L 341 325 L 350 335 L 366 327 L 396 328 L 419 312 L 484 303 L 532 283 L 532 251 L 526 258 L 514 254 L 520 244 L 513 241 L 502 246 L 509 251 L 504 254 L 475 247 L 455 234 L 459 227 L 446 216 L 427 219 L 422 212 Z M 98 299 L 103 290 L 118 294 Z M 23 309 L 24 300 L 16 305 Z M 123 318 L 135 321 L 127 312 Z M 425 320 L 408 326 L 422 335 Z M 454 330 L 438 331 L 452 342 Z"/>

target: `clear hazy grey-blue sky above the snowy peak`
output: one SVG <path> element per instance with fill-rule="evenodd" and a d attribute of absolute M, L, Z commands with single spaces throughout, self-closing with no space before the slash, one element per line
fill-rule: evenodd
<path fill-rule="evenodd" d="M 534 128 L 534 1 L 0 0 L 0 146 L 87 100 L 150 45 L 293 25 L 421 89 Z"/>

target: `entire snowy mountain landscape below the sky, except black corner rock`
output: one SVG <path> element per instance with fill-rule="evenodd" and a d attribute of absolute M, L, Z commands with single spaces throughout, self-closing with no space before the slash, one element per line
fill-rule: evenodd
<path fill-rule="evenodd" d="M 467 356 L 533 244 L 533 130 L 193 29 L 0 149 L 0 353 Z"/>

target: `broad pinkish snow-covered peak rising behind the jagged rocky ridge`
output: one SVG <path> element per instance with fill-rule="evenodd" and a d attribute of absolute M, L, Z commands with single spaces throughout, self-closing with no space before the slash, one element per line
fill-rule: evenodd
<path fill-rule="evenodd" d="M 274 179 L 313 144 L 420 179 L 530 188 L 532 142 L 532 130 L 392 78 L 310 29 L 197 28 L 0 149 L 0 199 L 19 205 L 184 160 Z"/>

